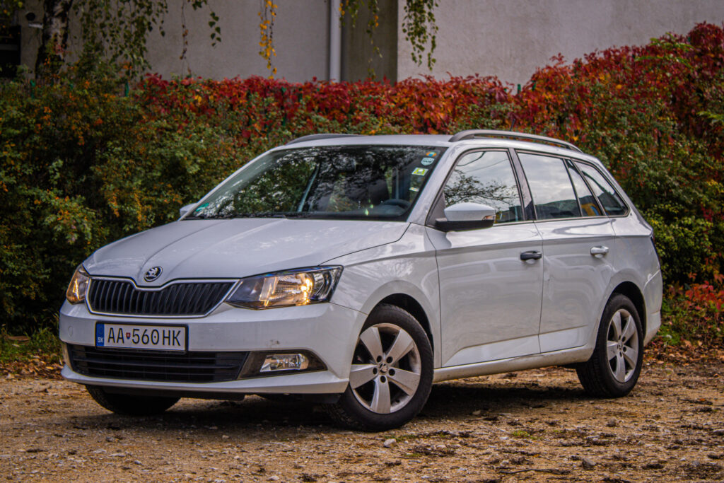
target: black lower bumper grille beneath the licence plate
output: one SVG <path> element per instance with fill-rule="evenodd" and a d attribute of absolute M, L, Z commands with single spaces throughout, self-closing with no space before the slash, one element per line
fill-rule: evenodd
<path fill-rule="evenodd" d="M 78 374 L 114 379 L 168 382 L 222 382 L 239 376 L 246 352 L 186 352 L 95 348 L 68 345 Z"/>

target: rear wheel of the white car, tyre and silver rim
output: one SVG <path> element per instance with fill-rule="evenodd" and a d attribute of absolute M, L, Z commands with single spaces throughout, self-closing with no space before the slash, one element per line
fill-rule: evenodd
<path fill-rule="evenodd" d="M 644 359 L 641 318 L 631 299 L 614 294 L 603 311 L 593 355 L 576 368 L 589 395 L 620 398 L 636 385 Z"/>

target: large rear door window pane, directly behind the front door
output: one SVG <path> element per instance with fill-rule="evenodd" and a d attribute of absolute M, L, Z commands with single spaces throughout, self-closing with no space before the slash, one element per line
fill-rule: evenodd
<path fill-rule="evenodd" d="M 576 193 L 563 159 L 518 153 L 531 188 L 538 219 L 580 217 Z"/>

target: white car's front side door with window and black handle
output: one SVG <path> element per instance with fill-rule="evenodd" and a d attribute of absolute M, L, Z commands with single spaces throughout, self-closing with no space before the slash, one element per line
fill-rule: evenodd
<path fill-rule="evenodd" d="M 508 152 L 463 154 L 443 195 L 445 206 L 494 207 L 496 222 L 481 230 L 427 229 L 437 250 L 442 366 L 539 353 L 542 240 L 523 219 Z"/>

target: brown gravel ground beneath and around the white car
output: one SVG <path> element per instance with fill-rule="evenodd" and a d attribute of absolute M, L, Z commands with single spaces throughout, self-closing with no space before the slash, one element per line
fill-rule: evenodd
<path fill-rule="evenodd" d="M 724 364 L 650 361 L 626 398 L 559 368 L 434 385 L 410 424 L 333 427 L 251 396 L 133 419 L 60 379 L 0 379 L 0 481 L 513 482 L 724 480 Z"/>

